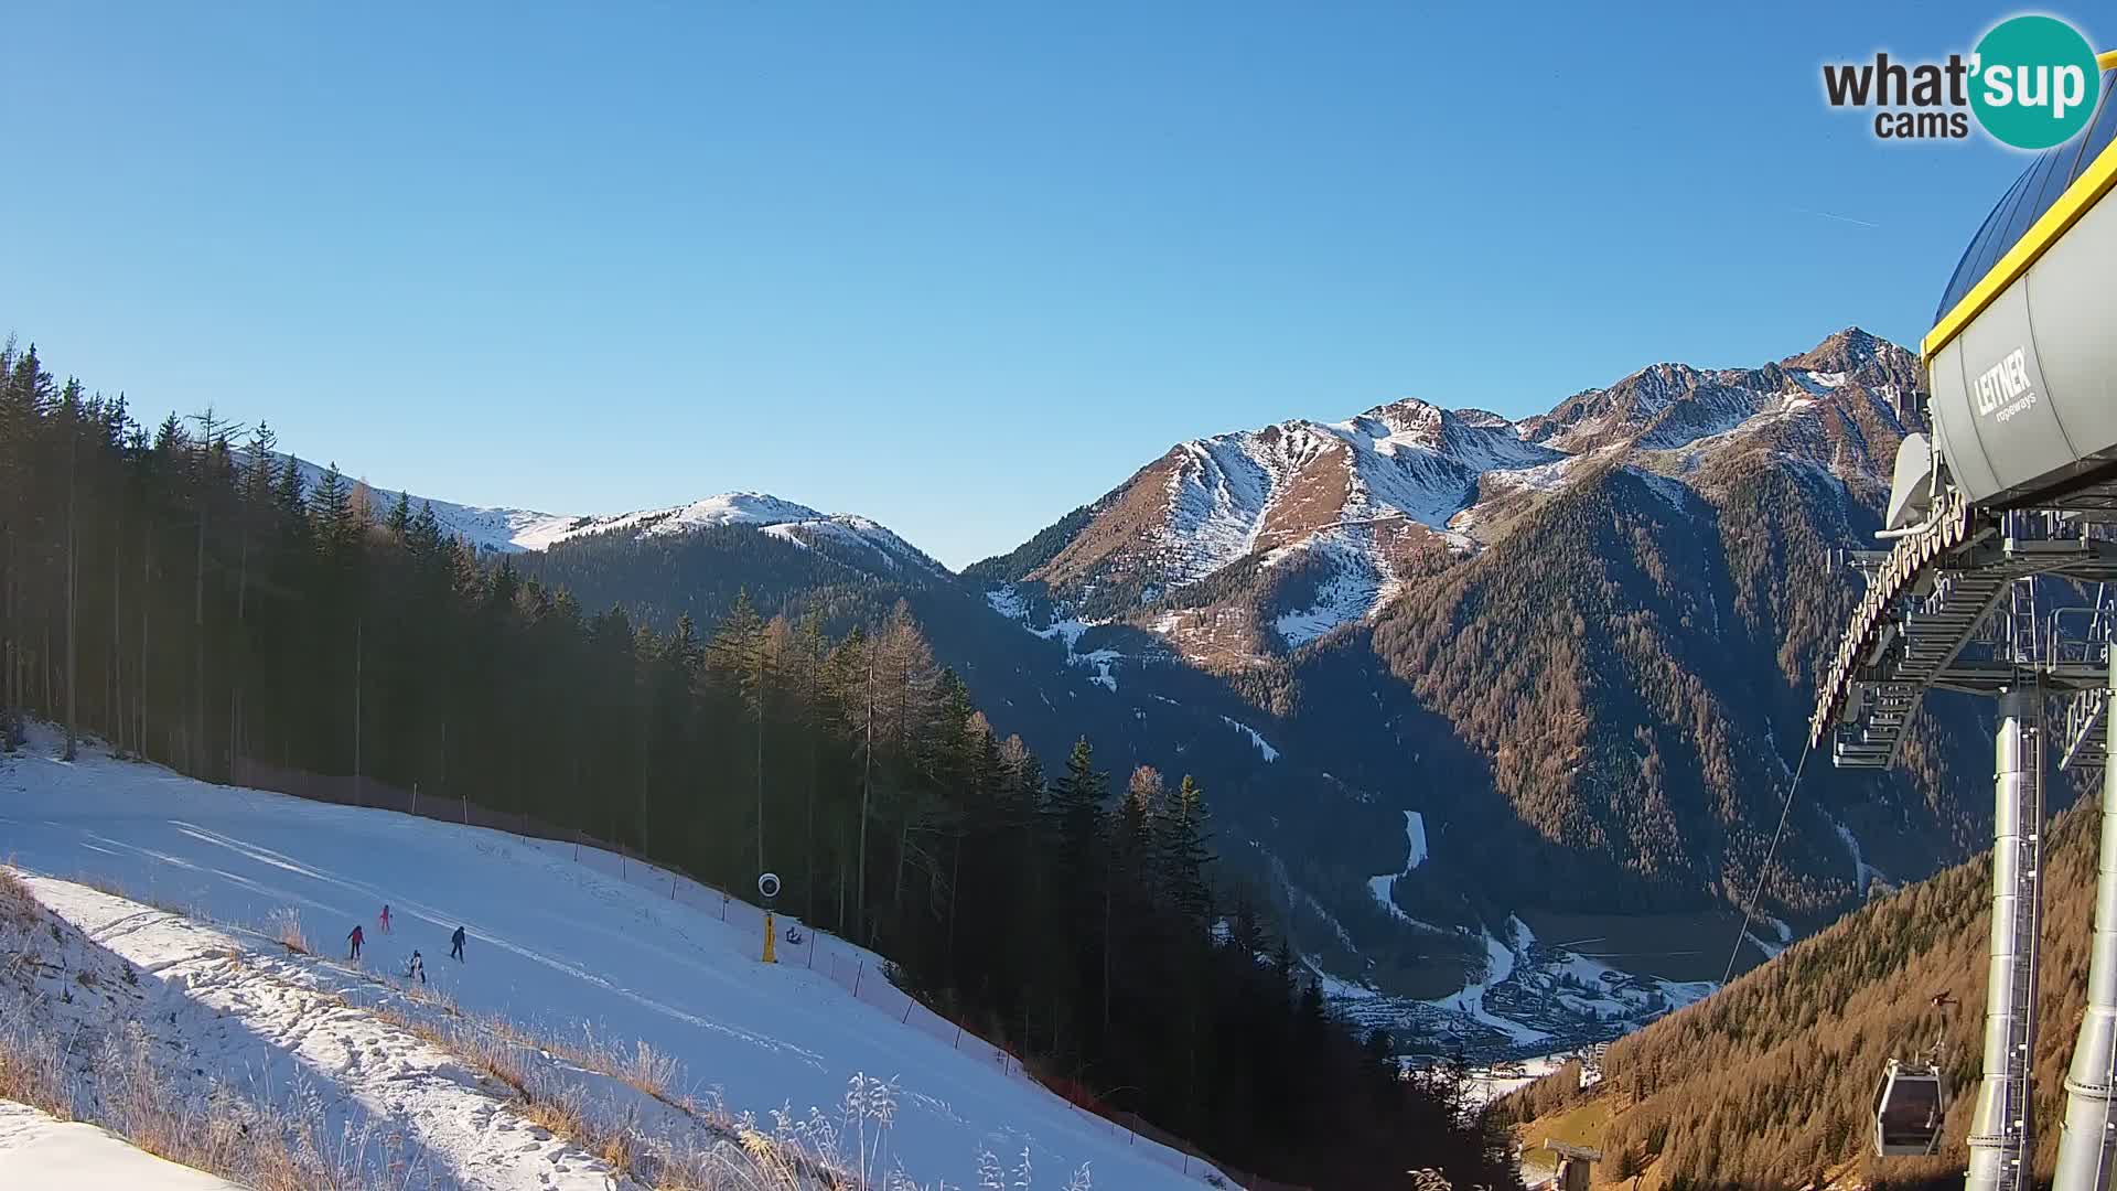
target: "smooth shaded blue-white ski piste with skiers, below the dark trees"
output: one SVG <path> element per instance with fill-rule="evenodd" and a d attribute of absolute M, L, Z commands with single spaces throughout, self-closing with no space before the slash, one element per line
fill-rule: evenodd
<path fill-rule="evenodd" d="M 38 731 L 0 761 L 0 858 L 25 871 L 114 879 L 222 922 L 265 924 L 292 907 L 311 945 L 341 958 L 362 924 L 368 971 L 400 973 L 417 947 L 430 981 L 466 1011 L 646 1041 L 684 1062 L 686 1091 L 718 1091 L 737 1113 L 832 1108 L 853 1074 L 895 1079 L 891 1166 L 919 1185 L 976 1185 L 980 1149 L 1025 1146 L 1039 1185 L 1082 1163 L 1101 1189 L 1213 1174 L 1046 1091 L 891 988 L 868 952 L 811 930 L 800 947 L 779 941 L 779 964 L 758 962 L 760 911 L 665 871 L 214 786 L 99 748 L 72 765 L 53 752 Z M 390 935 L 375 922 L 383 903 Z M 447 958 L 457 924 L 470 935 L 462 964 Z"/>

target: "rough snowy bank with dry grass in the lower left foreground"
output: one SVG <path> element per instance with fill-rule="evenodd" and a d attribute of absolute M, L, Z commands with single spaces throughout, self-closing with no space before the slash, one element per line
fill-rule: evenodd
<path fill-rule="evenodd" d="M 385 1002 L 406 1009 L 409 998 L 370 973 L 64 879 L 30 877 L 19 890 L 38 907 L 0 890 L 0 1028 L 17 1062 L 51 1081 L 44 1104 L 57 1100 L 87 1121 L 131 1121 L 127 1136 L 161 1136 L 178 1146 L 165 1151 L 171 1157 L 218 1153 L 227 1163 L 218 1170 L 258 1157 L 256 1170 L 282 1187 L 644 1191 L 586 1138 L 544 1130 L 500 1081 L 373 1013 Z M 580 1077 L 593 1094 L 591 1074 Z M 622 1091 L 633 1104 L 646 1100 Z M 0 1125 L 0 1174 L 36 1178 L 0 1187 L 74 1187 L 59 1166 L 72 1159 L 49 1151 L 53 1130 L 17 1123 L 23 1130 Z M 263 1157 L 235 1136 L 212 1140 L 231 1127 L 277 1136 L 284 1155 Z M 116 1138 L 57 1136 L 125 1163 L 135 1187 L 195 1187 L 186 1168 L 127 1159 Z"/>

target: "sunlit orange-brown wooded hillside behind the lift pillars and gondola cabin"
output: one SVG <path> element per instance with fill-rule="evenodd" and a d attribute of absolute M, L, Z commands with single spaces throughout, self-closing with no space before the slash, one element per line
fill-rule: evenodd
<path fill-rule="evenodd" d="M 2051 1176 L 2073 1030 L 2087 990 L 2096 882 L 2094 807 L 2060 814 L 2045 863 L 2037 1041 L 2037 1174 Z M 1653 1187 L 1802 1187 L 1823 1172 L 1888 1187 L 1960 1187 L 1979 1072 L 1992 856 L 1986 852 L 1795 943 L 1702 1005 L 1613 1043 L 1603 1083 L 1571 1070 L 1509 1098 L 1509 1119 L 1581 1102 L 1611 1110 L 1600 1178 Z M 1933 1009 L 1937 994 L 1952 1009 Z M 1946 1028 L 1954 1089 L 1941 1151 L 1871 1157 L 1874 1094 L 1888 1057 Z"/>

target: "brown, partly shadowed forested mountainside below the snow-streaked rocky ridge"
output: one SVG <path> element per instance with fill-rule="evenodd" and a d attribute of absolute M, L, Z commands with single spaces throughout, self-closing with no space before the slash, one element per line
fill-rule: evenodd
<path fill-rule="evenodd" d="M 1808 670 L 1857 587 L 1829 549 L 1869 521 L 1854 506 L 1859 521 L 1835 526 L 1838 481 L 1766 451 L 1694 483 L 1672 498 L 1620 466 L 1579 477 L 1482 555 L 1408 583 L 1372 629 L 1391 674 L 1490 757 L 1516 816 L 1571 846 L 1535 882 L 1545 896 L 1588 882 L 1634 890 L 1634 905 L 1700 888 L 1740 903 L 1757 886 Z M 1973 721 L 1939 723 L 1960 737 Z M 1810 765 L 1766 884 L 1774 913 L 1865 896 L 1848 820 L 1899 875 L 1975 848 L 1979 805 L 1960 793 L 1975 790 L 1977 748 L 1935 727 L 1926 714 L 1899 774 Z"/>

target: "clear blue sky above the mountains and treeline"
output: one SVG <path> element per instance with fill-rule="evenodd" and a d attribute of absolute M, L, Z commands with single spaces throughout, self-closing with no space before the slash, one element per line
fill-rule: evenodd
<path fill-rule="evenodd" d="M 2011 11 L 15 4 L 0 331 L 387 487 L 963 564 L 1196 434 L 1916 341 L 2022 161 L 1819 66 Z"/>

